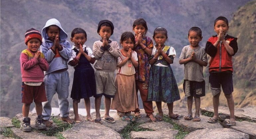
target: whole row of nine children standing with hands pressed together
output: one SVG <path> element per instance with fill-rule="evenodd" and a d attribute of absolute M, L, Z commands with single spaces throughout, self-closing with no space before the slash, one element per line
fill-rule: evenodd
<path fill-rule="evenodd" d="M 182 117 L 173 113 L 173 102 L 180 100 L 180 94 L 170 66 L 176 57 L 176 51 L 173 47 L 165 45 L 168 40 L 167 30 L 163 27 L 156 28 L 152 40 L 146 36 L 148 27 L 144 19 L 135 20 L 132 29 L 134 34 L 123 32 L 118 43 L 110 40 L 114 31 L 113 23 L 108 20 L 100 21 L 97 33 L 101 38 L 94 42 L 92 50 L 84 45 L 87 34 L 82 28 L 75 28 L 71 32 L 70 40 L 74 43 L 71 47 L 67 41 L 67 33 L 56 19 L 46 22 L 42 29 L 43 38 L 38 30 L 34 28 L 27 30 L 25 33 L 27 49 L 23 50 L 20 56 L 23 131 L 31 131 L 28 115 L 33 100 L 38 115 L 36 126 L 39 129 L 52 126 L 51 101 L 55 93 L 58 94 L 60 117 L 64 121 L 73 123 L 69 118 L 67 100 L 68 65 L 75 70 L 70 95 L 73 100 L 75 122 L 81 121 L 78 115 L 80 99 L 84 99 L 88 121 L 102 124 L 101 120 L 104 120 L 114 123 L 115 119 L 109 115 L 110 108 L 117 110 L 121 120 L 134 121 L 137 117 L 141 117 L 138 91 L 145 113 L 151 122 L 163 120 L 162 102 L 167 103 L 170 118 Z M 228 125 L 235 125 L 232 56 L 238 48 L 237 38 L 226 34 L 228 29 L 228 20 L 225 17 L 218 17 L 214 21 L 217 35 L 209 38 L 205 48 L 199 45 L 202 40 L 200 28 L 192 27 L 188 32 L 190 45 L 183 48 L 179 60 L 179 63 L 184 64 L 185 67 L 183 88 L 185 96 L 188 97 L 188 115 L 184 116 L 186 120 L 200 121 L 200 97 L 205 96 L 203 66 L 207 66 L 207 53 L 211 57 L 209 83 L 214 107 L 214 116 L 208 119 L 208 122 L 218 121 L 218 100 L 222 86 L 230 109 Z M 38 50 L 39 48 L 41 51 Z M 105 97 L 105 115 L 101 119 L 102 95 Z M 92 96 L 95 97 L 95 119 L 90 115 L 89 98 Z M 196 108 L 194 118 L 192 117 L 193 97 Z M 113 98 L 112 103 L 111 98 Z M 157 116 L 153 115 L 152 101 L 156 102 Z"/>

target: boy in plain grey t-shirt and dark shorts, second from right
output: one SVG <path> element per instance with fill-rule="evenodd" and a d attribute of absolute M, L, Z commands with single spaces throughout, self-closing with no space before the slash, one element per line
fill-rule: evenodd
<path fill-rule="evenodd" d="M 183 89 L 188 97 L 188 110 L 185 120 L 192 119 L 193 97 L 195 99 L 195 116 L 193 121 L 200 121 L 200 97 L 205 96 L 205 82 L 203 78 L 203 66 L 207 66 L 207 56 L 204 48 L 199 45 L 202 40 L 202 31 L 199 27 L 191 27 L 188 33 L 190 45 L 184 46 L 181 52 L 180 64 L 184 64 Z"/>

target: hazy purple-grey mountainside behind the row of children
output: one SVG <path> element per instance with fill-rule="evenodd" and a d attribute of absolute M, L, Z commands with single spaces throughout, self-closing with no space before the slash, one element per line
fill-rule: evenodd
<path fill-rule="evenodd" d="M 21 111 L 19 56 L 21 51 L 26 49 L 24 33 L 31 27 L 41 31 L 47 20 L 56 18 L 68 33 L 68 37 L 70 37 L 70 32 L 73 28 L 84 28 L 88 36 L 85 44 L 92 47 L 93 42 L 100 39 L 96 31 L 97 24 L 100 20 L 108 19 L 113 22 L 115 29 L 110 39 L 119 41 L 122 32 L 132 31 L 132 23 L 135 19 L 144 18 L 149 28 L 147 36 L 151 38 L 154 28 L 159 26 L 167 28 L 169 36 L 167 45 L 173 46 L 177 52 L 177 57 L 175 58 L 174 64 L 172 64 L 172 68 L 177 81 L 180 82 L 183 79 L 182 73 L 184 72 L 184 66 L 178 63 L 178 59 L 183 46 L 189 44 L 187 40 L 189 28 L 198 26 L 203 30 L 203 41 L 200 44 L 204 46 L 209 36 L 215 34 L 213 31 L 214 19 L 222 15 L 231 21 L 232 13 L 236 12 L 239 6 L 243 6 L 248 1 L 142 0 L 136 3 L 132 0 L 1 1 L 1 116 L 12 117 Z M 255 1 L 251 2 L 249 6 L 252 3 L 255 3 Z M 239 17 L 238 13 L 236 15 Z M 238 25 L 238 23 L 241 23 L 239 20 L 235 16 L 233 24 Z M 247 19 L 242 20 L 247 21 Z M 254 22 L 251 23 L 255 25 Z M 232 21 L 230 24 L 232 24 Z M 243 26 L 243 23 L 239 26 Z M 244 27 L 246 28 L 246 26 Z M 241 29 L 239 28 L 238 30 Z M 230 29 L 230 35 L 238 36 L 239 32 L 231 32 Z M 241 37 L 238 36 L 238 38 Z M 252 38 L 255 38 L 255 36 L 252 36 Z M 247 42 L 249 41 L 251 40 Z M 247 42 L 244 43 L 250 46 L 251 44 Z M 253 44 L 255 44 L 255 40 Z M 240 54 L 238 56 L 241 57 L 244 54 L 240 50 L 242 49 L 239 47 Z M 252 52 L 252 50 L 248 50 L 248 52 Z M 250 54 L 250 57 L 248 58 L 255 58 L 255 53 L 254 56 Z M 239 60 L 237 61 L 240 62 Z M 234 62 L 234 66 L 237 65 L 236 67 L 239 67 L 238 65 L 241 64 L 244 64 L 244 62 L 241 61 L 239 64 Z M 249 67 L 245 69 L 251 71 Z M 244 69 L 242 68 L 241 70 Z M 69 88 L 71 89 L 73 68 L 70 67 L 68 71 L 70 75 Z M 234 74 L 239 74 L 238 72 L 243 71 L 235 70 Z M 252 74 L 246 74 L 246 76 L 239 74 L 238 77 L 244 79 L 251 77 L 253 81 L 255 80 L 255 70 L 253 70 Z M 53 102 L 52 105 L 56 107 L 58 103 Z"/>

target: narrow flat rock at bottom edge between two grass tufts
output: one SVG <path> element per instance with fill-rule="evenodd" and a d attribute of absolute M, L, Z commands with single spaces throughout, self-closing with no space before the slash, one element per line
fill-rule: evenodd
<path fill-rule="evenodd" d="M 139 131 L 130 132 L 130 139 L 175 139 L 178 134 L 177 130 L 163 130 L 163 131 Z"/>

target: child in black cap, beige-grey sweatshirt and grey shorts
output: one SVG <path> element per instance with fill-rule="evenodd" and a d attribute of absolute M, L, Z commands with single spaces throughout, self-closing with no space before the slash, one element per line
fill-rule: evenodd
<path fill-rule="evenodd" d="M 113 34 L 114 25 L 111 21 L 102 20 L 98 24 L 97 33 L 101 40 L 95 41 L 93 44 L 93 55 L 97 60 L 94 65 L 95 80 L 96 80 L 96 95 L 95 97 L 95 123 L 102 124 L 100 118 L 100 104 L 102 95 L 105 96 L 105 115 L 103 120 L 114 123 L 114 118 L 109 116 L 111 98 L 115 96 L 115 69 L 116 60 L 120 56 L 119 45 L 116 41 L 111 41 L 109 38 Z"/>

